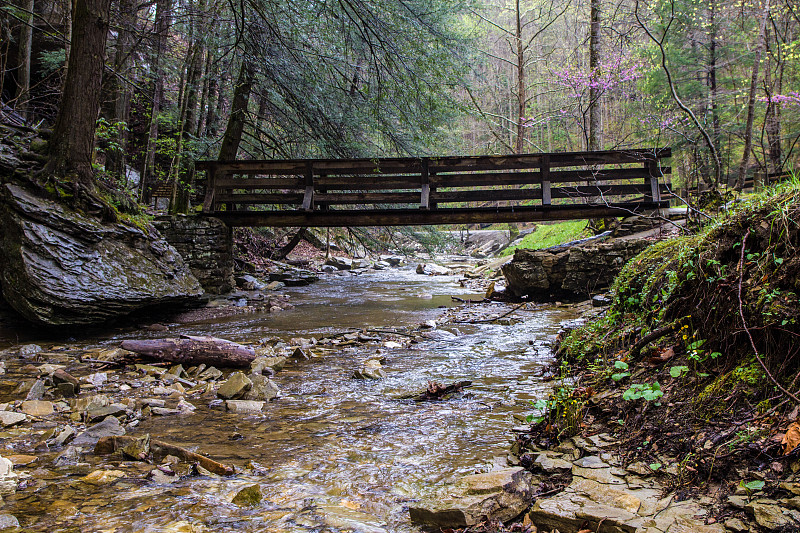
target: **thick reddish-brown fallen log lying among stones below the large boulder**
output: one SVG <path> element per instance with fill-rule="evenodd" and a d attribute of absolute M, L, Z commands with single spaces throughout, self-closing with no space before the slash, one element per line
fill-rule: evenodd
<path fill-rule="evenodd" d="M 196 366 L 247 367 L 256 358 L 247 346 L 216 337 L 181 335 L 179 339 L 122 341 L 123 350 L 143 357 Z"/>

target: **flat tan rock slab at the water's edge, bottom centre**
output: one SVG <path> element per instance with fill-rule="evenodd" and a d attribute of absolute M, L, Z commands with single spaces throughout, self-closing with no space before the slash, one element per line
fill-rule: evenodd
<path fill-rule="evenodd" d="M 507 522 L 521 514 L 533 499 L 532 476 L 524 468 L 504 468 L 465 476 L 448 487 L 432 505 L 411 507 L 415 524 L 440 528 L 469 527 L 479 522 Z"/>

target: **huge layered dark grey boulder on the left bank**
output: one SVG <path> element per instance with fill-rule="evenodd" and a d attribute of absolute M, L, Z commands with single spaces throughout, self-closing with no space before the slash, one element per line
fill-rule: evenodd
<path fill-rule="evenodd" d="M 95 324 L 197 302 L 197 279 L 152 229 L 101 224 L 14 184 L 0 188 L 0 286 L 28 320 Z"/>

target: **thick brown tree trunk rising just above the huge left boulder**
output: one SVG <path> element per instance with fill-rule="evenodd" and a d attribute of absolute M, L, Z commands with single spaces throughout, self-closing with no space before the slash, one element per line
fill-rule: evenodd
<path fill-rule="evenodd" d="M 94 190 L 92 150 L 111 0 L 76 0 L 64 94 L 50 140 L 48 171 L 73 175 L 77 187 Z"/>

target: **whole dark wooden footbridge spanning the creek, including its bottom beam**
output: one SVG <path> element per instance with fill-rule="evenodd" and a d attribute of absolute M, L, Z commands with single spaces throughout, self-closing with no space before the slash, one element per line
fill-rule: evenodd
<path fill-rule="evenodd" d="M 231 226 L 410 226 L 628 216 L 667 207 L 669 148 L 507 156 L 198 161 Z"/>

